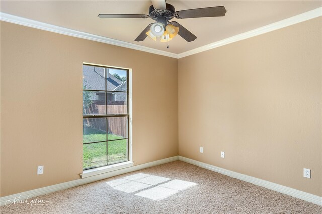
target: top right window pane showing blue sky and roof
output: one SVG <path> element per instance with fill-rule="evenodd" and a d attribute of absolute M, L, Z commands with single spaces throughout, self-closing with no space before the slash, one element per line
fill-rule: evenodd
<path fill-rule="evenodd" d="M 108 91 L 127 91 L 126 70 L 107 68 L 108 78 L 106 88 Z"/>

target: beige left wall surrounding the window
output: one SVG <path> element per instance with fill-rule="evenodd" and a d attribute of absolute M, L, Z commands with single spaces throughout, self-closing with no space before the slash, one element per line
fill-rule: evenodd
<path fill-rule="evenodd" d="M 135 165 L 178 155 L 177 59 L 1 22 L 2 197 L 80 179 L 83 62 L 132 69 Z"/>

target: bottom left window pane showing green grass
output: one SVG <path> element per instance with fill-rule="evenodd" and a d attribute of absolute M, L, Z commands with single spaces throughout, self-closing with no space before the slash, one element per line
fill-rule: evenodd
<path fill-rule="evenodd" d="M 106 142 L 83 144 L 83 168 L 106 165 Z"/>

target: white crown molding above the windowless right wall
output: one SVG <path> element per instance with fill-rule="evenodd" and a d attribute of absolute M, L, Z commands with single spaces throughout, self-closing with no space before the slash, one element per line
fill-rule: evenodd
<path fill-rule="evenodd" d="M 254 36 L 257 36 L 260 34 L 265 34 L 267 32 L 271 32 L 271 31 L 274 31 L 277 29 L 281 29 L 281 28 L 290 26 L 290 25 L 294 25 L 296 23 L 304 22 L 306 20 L 313 19 L 313 18 L 316 18 L 319 16 L 322 16 L 322 7 L 316 8 L 314 10 L 311 10 L 311 11 L 308 11 L 308 12 L 305 12 L 305 13 L 302 13 L 302 14 L 299 14 L 299 15 L 269 24 L 269 25 L 262 26 L 260 28 L 257 28 L 257 29 L 251 30 L 251 31 L 247 31 L 245 33 L 237 34 L 235 36 L 228 37 L 226 39 L 223 39 L 223 40 L 220 40 L 220 41 L 217 41 L 214 43 L 210 43 L 208 45 L 201 46 L 199 48 L 195 48 L 195 49 L 180 53 L 180 54 L 178 54 L 178 58 L 180 59 L 180 58 L 187 57 L 187 56 L 190 56 L 193 54 L 197 54 L 197 53 L 200 53 L 203 51 L 208 51 L 210 49 L 214 49 L 214 48 L 224 46 L 224 45 L 227 45 L 227 44 L 230 44 L 233 42 L 237 42 L 240 40 L 248 39 L 250 37 L 254 37 Z"/>

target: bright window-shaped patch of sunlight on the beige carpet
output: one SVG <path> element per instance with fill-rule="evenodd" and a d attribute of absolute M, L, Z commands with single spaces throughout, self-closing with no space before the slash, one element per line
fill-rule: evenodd
<path fill-rule="evenodd" d="M 113 189 L 160 201 L 197 183 L 138 173 L 106 182 Z M 145 190 L 144 190 L 145 189 Z M 143 190 L 143 191 L 141 191 Z"/>

